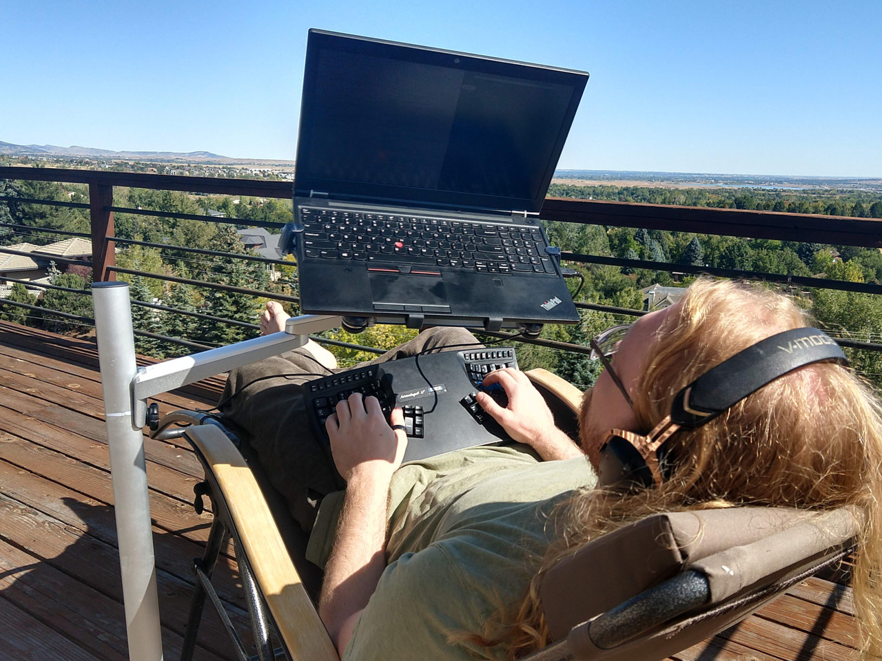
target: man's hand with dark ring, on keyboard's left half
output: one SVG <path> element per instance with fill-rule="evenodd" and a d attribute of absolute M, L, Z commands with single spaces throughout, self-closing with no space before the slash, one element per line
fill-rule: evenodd
<path fill-rule="evenodd" d="M 403 425 L 400 408 L 392 409 L 392 425 Z M 349 482 L 364 477 L 392 478 L 407 448 L 407 434 L 386 422 L 377 397 L 355 392 L 337 403 L 336 414 L 325 422 L 333 462 Z"/>

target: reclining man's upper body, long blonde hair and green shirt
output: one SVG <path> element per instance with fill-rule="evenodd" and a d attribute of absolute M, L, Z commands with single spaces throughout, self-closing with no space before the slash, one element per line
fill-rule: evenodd
<path fill-rule="evenodd" d="M 347 486 L 318 610 L 341 658 L 525 656 L 549 642 L 542 576 L 579 546 L 655 512 L 736 505 L 852 505 L 863 514 L 856 613 L 863 653 L 878 656 L 882 407 L 847 368 L 799 368 L 705 426 L 678 431 L 661 485 L 596 486 L 610 429 L 646 434 L 709 368 L 807 325 L 779 293 L 699 279 L 607 347 L 612 361 L 585 394 L 578 445 L 515 370 L 485 381 L 505 388 L 505 409 L 481 398 L 519 442 L 512 446 L 400 465 L 407 437 L 392 428 L 400 412 L 387 421 L 376 400 L 357 394 L 338 404 L 327 431 Z"/>

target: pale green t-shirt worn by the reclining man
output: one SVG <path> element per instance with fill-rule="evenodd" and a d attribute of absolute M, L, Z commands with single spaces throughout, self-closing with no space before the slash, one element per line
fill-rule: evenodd
<path fill-rule="evenodd" d="M 403 465 L 390 490 L 389 565 L 343 661 L 480 657 L 448 636 L 481 634 L 523 597 L 553 535 L 549 514 L 595 481 L 586 458 L 542 462 L 522 445 Z"/>

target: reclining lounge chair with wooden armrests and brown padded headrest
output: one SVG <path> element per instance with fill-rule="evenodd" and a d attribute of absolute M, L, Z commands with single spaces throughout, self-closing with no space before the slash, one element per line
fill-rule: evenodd
<path fill-rule="evenodd" d="M 545 370 L 528 375 L 558 426 L 575 437 L 581 392 Z M 257 658 L 269 661 L 284 653 L 293 661 L 337 660 L 313 603 L 320 576 L 298 560 L 305 539 L 280 495 L 252 470 L 235 437 L 205 413 L 173 413 L 157 435 L 170 433 L 163 429 L 170 422 L 197 423 L 175 433 L 191 442 L 205 467 L 197 507 L 208 495 L 214 513 L 206 553 L 194 561 L 198 581 L 183 661 L 190 661 L 206 594 L 225 619 L 240 659 L 249 657 L 210 583 L 227 536 L 243 577 Z M 650 516 L 594 540 L 549 571 L 541 593 L 554 642 L 527 658 L 668 657 L 840 561 L 854 549 L 858 531 L 849 509 L 736 508 Z"/>

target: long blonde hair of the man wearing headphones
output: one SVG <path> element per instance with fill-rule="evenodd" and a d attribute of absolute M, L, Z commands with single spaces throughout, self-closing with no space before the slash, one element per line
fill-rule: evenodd
<path fill-rule="evenodd" d="M 666 316 L 644 359 L 632 393 L 638 431 L 662 420 L 676 393 L 709 368 L 776 332 L 806 325 L 811 320 L 779 293 L 697 281 Z M 801 368 L 704 427 L 675 434 L 669 448 L 676 469 L 662 486 L 627 495 L 594 489 L 564 503 L 559 536 L 527 596 L 515 613 L 503 609 L 488 625 L 486 643 L 505 642 L 512 659 L 542 649 L 549 642 L 539 599 L 544 574 L 587 541 L 649 514 L 851 504 L 866 522 L 854 573 L 863 653 L 882 654 L 882 406 L 860 379 L 833 363 Z"/>

